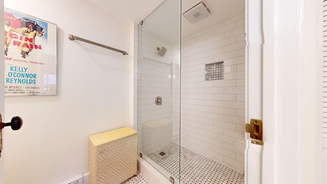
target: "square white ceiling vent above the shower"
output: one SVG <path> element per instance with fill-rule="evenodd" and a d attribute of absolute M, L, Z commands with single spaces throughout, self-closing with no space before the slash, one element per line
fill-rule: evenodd
<path fill-rule="evenodd" d="M 189 10 L 184 12 L 184 16 L 192 23 L 198 22 L 211 14 L 208 7 L 204 4 L 203 1 L 195 5 Z"/>

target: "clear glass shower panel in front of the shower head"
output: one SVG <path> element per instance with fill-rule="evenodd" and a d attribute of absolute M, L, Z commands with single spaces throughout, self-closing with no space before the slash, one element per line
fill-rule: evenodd
<path fill-rule="evenodd" d="M 138 153 L 179 183 L 180 6 L 166 0 L 138 25 Z"/>

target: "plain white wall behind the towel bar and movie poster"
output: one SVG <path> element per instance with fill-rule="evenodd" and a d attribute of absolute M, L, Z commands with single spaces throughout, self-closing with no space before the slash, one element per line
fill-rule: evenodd
<path fill-rule="evenodd" d="M 83 1 L 5 0 L 5 8 L 57 24 L 57 95 L 5 97 L 5 183 L 60 183 L 88 172 L 88 136 L 132 126 L 131 24 Z M 67 39 L 73 34 L 130 55 Z"/>

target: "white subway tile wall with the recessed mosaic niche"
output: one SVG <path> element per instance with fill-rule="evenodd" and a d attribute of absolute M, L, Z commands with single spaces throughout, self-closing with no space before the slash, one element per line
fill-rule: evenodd
<path fill-rule="evenodd" d="M 244 13 L 182 39 L 181 146 L 243 173 Z M 205 64 L 224 61 L 224 80 L 205 81 Z"/>

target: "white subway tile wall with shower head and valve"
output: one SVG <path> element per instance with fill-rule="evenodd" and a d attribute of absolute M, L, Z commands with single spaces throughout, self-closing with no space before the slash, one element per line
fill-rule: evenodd
<path fill-rule="evenodd" d="M 145 27 L 138 29 L 137 41 L 134 117 L 138 152 L 148 155 L 173 141 L 179 143 L 180 49 L 179 43 L 171 43 Z M 157 54 L 161 47 L 167 49 L 165 56 Z M 162 98 L 162 105 L 155 104 L 156 97 Z"/>

